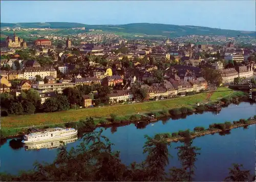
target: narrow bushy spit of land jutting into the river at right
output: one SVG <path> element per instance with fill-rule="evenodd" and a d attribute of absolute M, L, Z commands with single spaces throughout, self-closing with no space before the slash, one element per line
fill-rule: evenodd
<path fill-rule="evenodd" d="M 230 122 L 214 123 L 209 125 L 208 129 L 204 129 L 203 127 L 195 127 L 194 132 L 185 130 L 185 131 L 179 131 L 174 133 L 166 133 L 165 137 L 168 142 L 178 142 L 178 141 L 184 141 L 188 137 L 190 139 L 195 139 L 197 137 L 202 137 L 207 134 L 226 132 L 234 128 L 247 127 L 253 124 L 256 124 L 256 116 L 254 116 L 253 119 L 248 119 L 248 120 L 241 119 L 239 121 L 233 121 L 233 124 L 231 124 Z"/>

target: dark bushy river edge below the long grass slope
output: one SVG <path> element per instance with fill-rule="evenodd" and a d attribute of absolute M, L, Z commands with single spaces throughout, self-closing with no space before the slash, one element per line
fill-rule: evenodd
<path fill-rule="evenodd" d="M 233 95 L 233 96 L 232 96 Z M 228 95 L 229 99 L 227 99 L 228 104 L 221 103 L 223 105 L 229 105 L 234 101 L 234 103 L 237 102 L 237 99 L 230 100 L 232 97 L 238 98 L 238 99 L 245 99 L 245 95 L 242 92 L 236 92 L 231 95 Z M 147 125 L 150 122 L 153 122 L 154 120 L 150 119 L 152 115 L 154 115 L 155 121 L 161 119 L 161 118 L 177 118 L 177 117 L 184 117 L 186 115 L 191 115 L 193 113 L 203 113 L 204 111 L 216 111 L 215 104 L 208 103 L 206 105 L 199 105 L 199 106 L 193 106 L 189 105 L 189 107 L 178 107 L 173 109 L 158 109 L 151 112 L 139 112 L 133 115 L 124 115 L 124 116 L 118 116 L 115 115 L 111 118 L 93 118 L 93 121 L 88 124 L 87 119 L 82 119 L 79 121 L 73 121 L 73 122 L 62 122 L 62 123 L 56 123 L 56 124 L 44 124 L 44 125 L 35 125 L 35 127 L 42 129 L 42 128 L 48 128 L 48 127 L 77 127 L 78 131 L 80 132 L 89 132 L 94 130 L 96 127 L 112 127 L 112 126 L 124 126 L 134 123 L 135 125 Z M 89 126 L 90 125 L 90 126 Z M 3 127 L 1 130 L 2 138 L 17 138 L 21 135 L 24 135 L 28 133 L 29 126 L 33 126 L 32 124 L 27 125 L 26 127 L 18 127 L 18 128 L 5 128 Z"/>

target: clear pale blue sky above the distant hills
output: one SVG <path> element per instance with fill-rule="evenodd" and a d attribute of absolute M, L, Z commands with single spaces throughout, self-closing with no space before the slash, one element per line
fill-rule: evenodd
<path fill-rule="evenodd" d="M 255 31 L 255 0 L 1 1 L 1 22 L 139 22 Z M 11 11 L 11 12 L 10 12 Z M 13 13 L 14 12 L 14 13 Z"/>

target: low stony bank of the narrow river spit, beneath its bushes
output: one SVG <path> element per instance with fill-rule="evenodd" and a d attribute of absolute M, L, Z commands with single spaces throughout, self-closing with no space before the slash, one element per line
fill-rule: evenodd
<path fill-rule="evenodd" d="M 242 119 L 243 120 L 243 119 Z M 253 125 L 253 124 L 256 124 L 256 117 L 254 117 L 254 119 L 252 119 L 251 121 L 248 121 L 248 120 L 243 120 L 245 123 L 240 123 L 240 121 L 237 121 L 239 123 L 235 123 L 235 124 L 228 124 L 229 127 L 226 128 L 226 129 L 217 129 L 217 128 L 208 128 L 208 129 L 205 129 L 203 131 L 196 131 L 196 132 L 190 132 L 190 131 L 179 131 L 178 133 L 186 133 L 187 136 L 186 137 L 182 137 L 182 136 L 171 136 L 170 133 L 167 134 L 167 138 L 166 138 L 166 141 L 167 142 L 179 142 L 179 141 L 184 141 L 188 136 L 190 139 L 195 139 L 197 137 L 203 137 L 204 135 L 207 135 L 207 134 L 214 134 L 214 133 L 221 133 L 221 132 L 229 132 L 231 129 L 234 129 L 234 128 L 239 128 L 239 127 L 247 127 L 249 125 Z M 228 122 L 227 122 L 228 123 Z M 214 124 L 213 124 L 214 125 Z M 225 124 L 224 124 L 225 125 Z M 200 127 L 198 127 L 200 128 Z M 173 134 L 173 135 L 176 135 L 177 133 Z M 184 134 L 184 135 L 186 135 Z"/>

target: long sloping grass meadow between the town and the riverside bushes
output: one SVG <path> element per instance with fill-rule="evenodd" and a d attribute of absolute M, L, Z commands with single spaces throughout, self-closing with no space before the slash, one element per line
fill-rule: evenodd
<path fill-rule="evenodd" d="M 227 90 L 223 92 L 223 90 Z M 233 93 L 234 91 L 228 88 L 220 87 L 212 94 L 210 101 L 215 101 L 217 98 L 224 97 Z M 236 93 L 236 92 L 234 92 Z M 196 103 L 203 102 L 207 98 L 207 93 L 201 93 L 193 96 L 186 96 L 183 98 L 175 98 L 160 101 L 150 101 L 127 105 L 113 105 L 97 108 L 86 108 L 77 110 L 67 110 L 59 112 L 37 113 L 35 115 L 9 116 L 1 118 L 2 128 L 20 128 L 37 125 L 52 125 L 59 123 L 75 122 L 83 120 L 88 117 L 110 118 L 111 113 L 117 116 L 134 115 L 138 112 L 151 112 L 155 110 L 173 109 L 190 107 L 192 108 Z"/>

